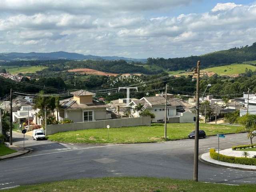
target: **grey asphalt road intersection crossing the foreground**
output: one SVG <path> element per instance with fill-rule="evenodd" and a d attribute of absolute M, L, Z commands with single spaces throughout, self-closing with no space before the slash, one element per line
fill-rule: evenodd
<path fill-rule="evenodd" d="M 14 144 L 22 135 L 14 133 Z M 72 145 L 33 141 L 26 137 L 31 153 L 0 161 L 0 188 L 64 179 L 106 176 L 150 176 L 192 179 L 194 140 L 147 144 Z M 220 148 L 248 144 L 246 134 L 220 138 Z M 200 139 L 199 153 L 218 148 L 218 138 Z M 235 170 L 199 162 L 199 180 L 229 184 L 256 184 L 256 172 Z"/>

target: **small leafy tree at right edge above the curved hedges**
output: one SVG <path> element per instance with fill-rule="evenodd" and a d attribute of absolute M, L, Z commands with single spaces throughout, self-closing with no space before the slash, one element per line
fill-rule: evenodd
<path fill-rule="evenodd" d="M 247 132 L 247 138 L 250 139 L 252 145 L 252 139 L 255 136 L 256 131 L 256 115 L 246 114 L 240 118 L 240 123 L 244 125 L 244 130 Z"/>

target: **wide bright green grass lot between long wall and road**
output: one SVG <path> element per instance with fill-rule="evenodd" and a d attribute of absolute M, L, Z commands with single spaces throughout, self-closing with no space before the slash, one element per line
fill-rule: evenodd
<path fill-rule="evenodd" d="M 168 140 L 187 138 L 194 130 L 194 123 L 167 124 Z M 206 135 L 217 133 L 234 133 L 237 126 L 215 125 L 200 123 L 200 129 Z M 88 129 L 56 133 L 48 136 L 49 140 L 72 143 L 137 143 L 137 142 L 161 142 L 164 141 L 164 124 L 152 124 L 151 126 L 136 126 L 109 129 Z"/>

